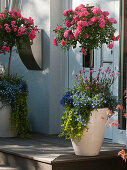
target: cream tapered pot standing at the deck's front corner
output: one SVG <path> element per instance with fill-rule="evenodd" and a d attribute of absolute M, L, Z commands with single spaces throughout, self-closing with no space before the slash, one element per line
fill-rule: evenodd
<path fill-rule="evenodd" d="M 88 131 L 84 130 L 84 136 L 80 142 L 71 140 L 76 155 L 96 156 L 99 154 L 106 131 L 108 108 L 92 111 L 88 123 Z"/>

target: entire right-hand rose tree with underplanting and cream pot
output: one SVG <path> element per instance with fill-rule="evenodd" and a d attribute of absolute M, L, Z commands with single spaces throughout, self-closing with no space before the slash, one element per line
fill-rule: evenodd
<path fill-rule="evenodd" d="M 87 156 L 97 155 L 104 138 L 107 119 L 106 112 L 108 111 L 108 113 L 111 114 L 112 112 L 110 110 L 114 111 L 115 109 L 116 99 L 110 91 L 110 86 L 115 77 L 114 72 L 111 73 L 108 68 L 109 73 L 106 73 L 109 77 L 107 77 L 104 72 L 105 79 L 103 79 L 103 72 L 99 71 L 97 75 L 98 78 L 92 78 L 92 50 L 100 48 L 102 44 L 106 44 L 109 49 L 113 48 L 113 42 L 120 39 L 120 35 L 115 36 L 116 29 L 114 28 L 114 24 L 117 24 L 117 21 L 115 18 L 109 17 L 108 11 L 102 11 L 100 8 L 93 6 L 86 7 L 83 4 L 76 7 L 75 10 L 65 10 L 63 16 L 65 17 L 63 25 L 58 25 L 54 30 L 56 33 L 56 37 L 53 39 L 54 45 L 59 46 L 60 44 L 62 49 L 69 50 L 71 47 L 76 48 L 78 44 L 83 55 L 87 55 L 88 52 L 90 53 L 91 63 L 90 79 L 85 77 L 85 70 L 83 70 L 84 76 L 82 72 L 79 76 L 76 76 L 77 84 L 73 86 L 71 91 L 66 92 L 62 100 L 62 103 L 64 103 L 66 107 L 62 117 L 62 135 L 72 139 L 76 154 Z M 102 77 L 100 77 L 100 74 L 102 74 Z M 102 108 L 105 108 L 105 111 Z M 92 120 L 96 120 L 94 124 L 97 126 L 91 131 L 90 122 Z M 118 125 L 117 122 L 114 122 L 114 124 Z M 99 127 L 99 125 L 101 126 Z M 96 137 L 96 139 L 100 139 L 100 141 L 96 141 L 96 143 L 94 140 L 92 141 L 92 135 L 99 133 L 97 131 L 95 133 L 97 129 L 102 129 L 102 133 L 101 136 Z M 91 133 L 90 140 L 82 140 L 84 130 L 88 130 L 88 132 Z M 83 149 L 84 145 L 83 148 L 80 148 L 80 146 L 85 143 L 85 149 Z M 87 146 L 87 144 L 90 143 L 91 145 Z M 95 143 L 96 147 L 92 148 Z"/>

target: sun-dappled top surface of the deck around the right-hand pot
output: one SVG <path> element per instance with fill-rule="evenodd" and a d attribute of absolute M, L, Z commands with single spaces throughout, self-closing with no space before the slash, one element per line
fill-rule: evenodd
<path fill-rule="evenodd" d="M 100 155 L 105 155 L 102 153 L 106 153 L 106 151 L 115 151 L 116 154 L 116 151 L 122 148 L 125 148 L 125 146 L 104 143 Z M 59 138 L 56 135 L 33 134 L 32 139 L 0 138 L 0 151 L 45 163 L 51 163 L 56 158 L 58 161 L 61 158 L 67 160 L 77 158 L 74 155 L 70 140 Z"/>

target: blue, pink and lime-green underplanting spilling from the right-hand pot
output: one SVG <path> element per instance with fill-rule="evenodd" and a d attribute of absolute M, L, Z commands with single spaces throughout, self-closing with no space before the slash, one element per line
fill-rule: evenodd
<path fill-rule="evenodd" d="M 73 88 L 67 91 L 61 100 L 61 104 L 66 108 L 62 116 L 61 135 L 65 135 L 67 139 L 80 140 L 83 130 L 88 129 L 87 124 L 94 109 L 108 107 L 108 114 L 112 115 L 116 109 L 117 98 L 110 88 L 119 75 L 119 72 L 112 72 L 110 68 L 105 70 L 99 68 L 95 78 L 91 69 L 92 79 L 86 77 L 85 70 L 76 75 Z M 115 125 L 118 123 L 115 122 Z"/>

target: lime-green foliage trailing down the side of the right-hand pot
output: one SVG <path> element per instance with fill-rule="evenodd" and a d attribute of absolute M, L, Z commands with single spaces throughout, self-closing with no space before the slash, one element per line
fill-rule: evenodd
<path fill-rule="evenodd" d="M 82 120 L 79 121 L 81 115 Z M 87 115 L 90 115 L 90 112 L 86 111 L 86 114 L 81 114 L 81 112 L 75 113 L 75 108 L 67 106 L 62 116 L 63 124 L 60 136 L 65 136 L 66 139 L 74 139 L 76 137 L 77 140 L 80 140 L 81 136 L 83 136 L 83 130 L 88 129 L 86 122 L 89 121 L 89 116 Z"/>

